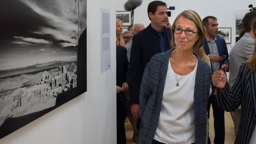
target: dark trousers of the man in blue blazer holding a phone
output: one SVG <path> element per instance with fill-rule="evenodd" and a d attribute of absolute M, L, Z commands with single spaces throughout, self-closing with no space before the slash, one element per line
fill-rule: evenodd
<path fill-rule="evenodd" d="M 214 129 L 215 129 L 215 144 L 224 144 L 225 142 L 225 119 L 224 119 L 224 110 L 220 108 L 217 104 L 216 98 L 212 94 L 209 97 L 207 104 L 208 119 L 210 114 L 210 105 L 212 104 L 213 108 L 213 119 L 214 119 Z M 208 144 L 210 144 L 210 137 L 208 136 Z"/>

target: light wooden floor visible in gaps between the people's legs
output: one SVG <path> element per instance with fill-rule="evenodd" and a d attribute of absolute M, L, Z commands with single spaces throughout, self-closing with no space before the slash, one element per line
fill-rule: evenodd
<path fill-rule="evenodd" d="M 213 143 L 214 139 L 214 129 L 213 129 L 213 117 L 212 117 L 212 109 L 210 111 L 210 119 L 209 119 L 209 130 L 210 130 L 210 140 L 211 143 Z M 132 141 L 132 136 L 133 136 L 133 130 L 132 126 L 130 125 L 130 121 L 127 120 L 125 123 L 126 126 L 126 142 L 127 144 L 135 144 L 135 142 Z M 231 144 L 234 143 L 235 141 L 235 132 L 234 132 L 234 127 L 233 127 L 233 120 L 231 118 L 231 114 L 228 112 L 225 112 L 225 143 L 226 144 Z"/>

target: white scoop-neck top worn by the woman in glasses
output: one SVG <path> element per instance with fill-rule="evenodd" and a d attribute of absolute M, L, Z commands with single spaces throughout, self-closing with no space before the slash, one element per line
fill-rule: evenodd
<path fill-rule="evenodd" d="M 194 87 L 196 67 L 177 75 L 169 60 L 158 127 L 154 139 L 162 143 L 194 143 Z M 177 75 L 177 77 L 176 77 Z M 179 86 L 176 86 L 178 79 Z"/>

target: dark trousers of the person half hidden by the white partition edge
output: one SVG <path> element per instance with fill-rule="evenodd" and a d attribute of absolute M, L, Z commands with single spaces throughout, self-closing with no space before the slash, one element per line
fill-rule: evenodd
<path fill-rule="evenodd" d="M 126 144 L 124 121 L 126 119 L 126 105 L 121 94 L 117 94 L 117 144 Z"/>

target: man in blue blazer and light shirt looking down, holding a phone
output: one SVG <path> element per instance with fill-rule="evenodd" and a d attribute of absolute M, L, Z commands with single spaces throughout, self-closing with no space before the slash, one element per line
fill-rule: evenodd
<path fill-rule="evenodd" d="M 223 71 L 228 71 L 229 59 L 228 59 L 228 48 L 226 46 L 226 41 L 220 37 L 217 37 L 218 33 L 218 23 L 217 18 L 213 16 L 207 16 L 203 19 L 204 30 L 206 39 L 204 40 L 204 50 L 206 55 L 209 56 L 212 63 L 212 73 L 222 69 Z M 210 105 L 213 108 L 213 118 L 215 127 L 215 144 L 224 144 L 225 142 L 225 120 L 224 120 L 224 110 L 219 107 L 217 101 L 214 97 L 215 87 L 212 85 L 212 95 L 209 97 L 208 101 L 208 119 L 210 112 Z M 210 139 L 208 138 L 208 143 Z"/>

